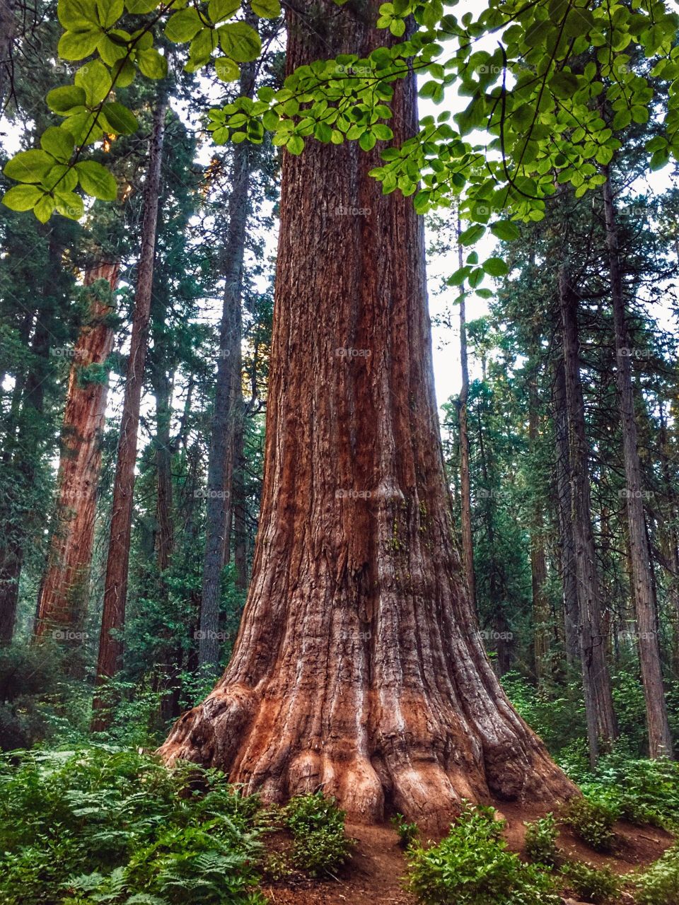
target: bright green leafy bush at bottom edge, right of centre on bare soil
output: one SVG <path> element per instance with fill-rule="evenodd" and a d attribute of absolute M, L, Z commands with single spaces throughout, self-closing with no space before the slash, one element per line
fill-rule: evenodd
<path fill-rule="evenodd" d="M 557 905 L 550 876 L 521 862 L 492 807 L 465 805 L 437 845 L 413 844 L 407 886 L 425 905 Z"/>

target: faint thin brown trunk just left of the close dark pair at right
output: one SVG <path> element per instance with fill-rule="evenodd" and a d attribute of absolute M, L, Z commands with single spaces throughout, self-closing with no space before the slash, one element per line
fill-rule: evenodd
<path fill-rule="evenodd" d="M 540 414 L 538 407 L 537 376 L 531 376 L 529 383 L 528 435 L 531 455 L 537 452 Z M 531 587 L 533 605 L 533 654 L 535 675 L 542 679 L 548 672 L 549 653 L 548 620 L 550 605 L 546 593 L 547 558 L 545 557 L 544 519 L 540 500 L 536 499 L 531 519 Z"/>

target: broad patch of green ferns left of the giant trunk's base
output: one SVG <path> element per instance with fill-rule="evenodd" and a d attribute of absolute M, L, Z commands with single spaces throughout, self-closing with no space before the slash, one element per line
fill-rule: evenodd
<path fill-rule="evenodd" d="M 0 901 L 263 902 L 257 806 L 216 770 L 167 770 L 133 751 L 5 756 Z"/>

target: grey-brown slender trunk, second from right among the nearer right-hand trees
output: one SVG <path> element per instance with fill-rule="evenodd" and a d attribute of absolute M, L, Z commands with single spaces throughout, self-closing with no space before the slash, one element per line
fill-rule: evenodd
<path fill-rule="evenodd" d="M 609 748 L 617 736 L 617 727 L 606 662 L 606 644 L 601 630 L 601 591 L 592 533 L 585 402 L 580 382 L 578 298 L 563 267 L 559 271 L 559 302 L 569 417 L 570 511 L 580 607 L 580 656 L 589 757 L 594 765 L 598 758 L 599 743 Z"/>

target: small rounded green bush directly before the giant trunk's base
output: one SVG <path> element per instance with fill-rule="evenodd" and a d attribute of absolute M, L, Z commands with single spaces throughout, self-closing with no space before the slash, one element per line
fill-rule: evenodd
<path fill-rule="evenodd" d="M 344 833 L 344 811 L 322 793 L 298 795 L 285 808 L 292 833 L 292 863 L 311 877 L 332 876 L 349 860 L 354 847 Z"/>

